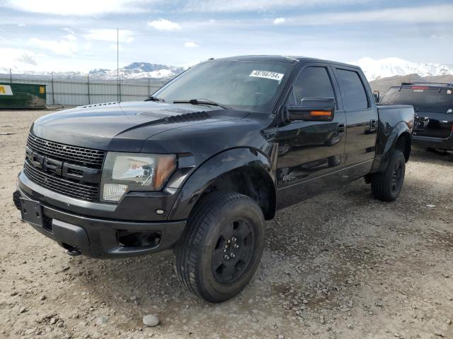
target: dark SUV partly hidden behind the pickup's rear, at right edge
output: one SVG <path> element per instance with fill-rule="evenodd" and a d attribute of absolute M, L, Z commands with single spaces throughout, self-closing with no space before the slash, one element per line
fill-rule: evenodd
<path fill-rule="evenodd" d="M 453 83 L 402 83 L 382 97 L 385 105 L 413 105 L 414 145 L 449 153 L 453 161 Z"/>

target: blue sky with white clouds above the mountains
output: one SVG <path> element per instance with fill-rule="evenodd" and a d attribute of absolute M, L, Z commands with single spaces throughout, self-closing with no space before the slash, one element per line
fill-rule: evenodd
<path fill-rule="evenodd" d="M 0 69 L 284 54 L 453 64 L 451 0 L 1 0 Z"/>

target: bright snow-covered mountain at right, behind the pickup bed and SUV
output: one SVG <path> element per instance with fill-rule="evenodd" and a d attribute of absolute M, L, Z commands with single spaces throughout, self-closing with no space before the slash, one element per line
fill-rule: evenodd
<path fill-rule="evenodd" d="M 363 58 L 352 61 L 350 64 L 360 66 L 365 76 L 367 76 L 368 81 L 388 78 L 390 76 L 407 76 L 414 73 L 422 77 L 453 75 L 453 67 L 451 65 L 422 64 L 400 58 L 379 60 Z"/>

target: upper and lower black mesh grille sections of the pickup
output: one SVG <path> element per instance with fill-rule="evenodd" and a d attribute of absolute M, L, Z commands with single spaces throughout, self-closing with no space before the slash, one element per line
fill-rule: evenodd
<path fill-rule="evenodd" d="M 33 153 L 38 153 L 46 158 L 93 169 L 101 169 L 106 153 L 103 150 L 47 141 L 33 136 L 31 133 L 28 135 L 27 146 Z M 99 200 L 99 183 L 82 182 L 81 180 L 62 177 L 55 172 L 45 172 L 33 166 L 29 160 L 25 160 L 23 172 L 32 182 L 59 194 L 88 201 Z M 69 168 L 68 174 L 83 177 L 83 172 L 79 169 Z"/>

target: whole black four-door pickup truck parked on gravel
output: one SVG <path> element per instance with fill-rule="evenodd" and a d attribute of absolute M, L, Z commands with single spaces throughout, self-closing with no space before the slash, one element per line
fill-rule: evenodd
<path fill-rule="evenodd" d="M 71 255 L 174 249 L 181 285 L 222 302 L 256 272 L 276 210 L 363 177 L 394 201 L 413 117 L 411 106 L 378 107 L 356 66 L 210 60 L 144 102 L 36 120 L 13 198 Z"/>

